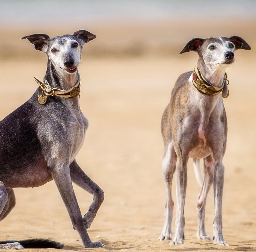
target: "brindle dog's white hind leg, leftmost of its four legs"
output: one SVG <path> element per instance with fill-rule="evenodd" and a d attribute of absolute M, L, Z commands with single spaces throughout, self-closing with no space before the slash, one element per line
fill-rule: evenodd
<path fill-rule="evenodd" d="M 175 171 L 177 155 L 173 149 L 172 142 L 164 148 L 164 158 L 162 162 L 162 175 L 165 185 L 165 205 L 164 205 L 164 227 L 159 240 L 172 240 L 172 177 Z"/>

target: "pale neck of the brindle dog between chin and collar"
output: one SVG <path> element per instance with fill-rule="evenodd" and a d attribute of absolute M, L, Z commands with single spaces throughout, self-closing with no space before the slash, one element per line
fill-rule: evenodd
<path fill-rule="evenodd" d="M 228 65 L 227 65 L 228 66 Z M 204 76 L 204 79 L 212 84 L 214 87 L 221 87 L 223 84 L 223 78 L 225 75 L 225 69 L 227 66 L 221 65 L 218 68 L 212 66 L 211 64 L 205 64 L 204 59 L 199 58 L 197 62 L 197 67 Z"/>

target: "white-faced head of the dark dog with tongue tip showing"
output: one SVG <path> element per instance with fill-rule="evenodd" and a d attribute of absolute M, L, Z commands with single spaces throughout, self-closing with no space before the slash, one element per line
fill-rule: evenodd
<path fill-rule="evenodd" d="M 34 44 L 36 50 L 47 54 L 56 69 L 74 74 L 78 69 L 84 44 L 96 38 L 96 35 L 79 30 L 73 35 L 50 38 L 46 34 L 32 34 L 21 39 L 26 38 Z"/>

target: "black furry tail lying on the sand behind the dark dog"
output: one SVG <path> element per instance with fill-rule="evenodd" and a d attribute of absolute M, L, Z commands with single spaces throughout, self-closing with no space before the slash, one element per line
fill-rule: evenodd
<path fill-rule="evenodd" d="M 0 244 L 6 244 L 9 242 L 19 242 L 23 248 L 63 248 L 64 244 L 49 239 L 28 239 L 28 240 L 6 240 L 0 241 Z"/>

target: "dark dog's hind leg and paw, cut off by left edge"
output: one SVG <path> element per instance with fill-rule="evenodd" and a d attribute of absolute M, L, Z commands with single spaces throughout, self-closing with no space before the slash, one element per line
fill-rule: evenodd
<path fill-rule="evenodd" d="M 0 181 L 0 221 L 4 219 L 15 206 L 15 195 L 12 188 L 6 188 Z M 0 244 L 0 249 L 24 249 L 19 242 L 6 241 Z"/>

